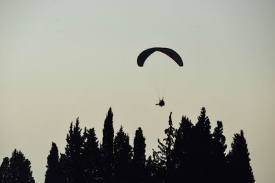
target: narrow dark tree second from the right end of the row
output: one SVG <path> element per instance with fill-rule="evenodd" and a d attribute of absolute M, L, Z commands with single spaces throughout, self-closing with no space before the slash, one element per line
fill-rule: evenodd
<path fill-rule="evenodd" d="M 226 180 L 226 159 L 225 159 L 225 136 L 223 136 L 223 123 L 221 121 L 217 121 L 217 127 L 214 128 L 214 132 L 212 134 L 212 164 L 213 164 L 213 172 L 214 177 L 212 182 L 225 182 Z"/>

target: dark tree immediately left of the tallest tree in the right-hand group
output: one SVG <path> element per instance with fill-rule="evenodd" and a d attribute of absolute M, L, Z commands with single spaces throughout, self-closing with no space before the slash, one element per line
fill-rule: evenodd
<path fill-rule="evenodd" d="M 175 133 L 173 162 L 175 163 L 175 182 L 192 182 L 195 171 L 193 125 L 183 116 Z"/>

